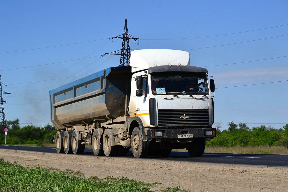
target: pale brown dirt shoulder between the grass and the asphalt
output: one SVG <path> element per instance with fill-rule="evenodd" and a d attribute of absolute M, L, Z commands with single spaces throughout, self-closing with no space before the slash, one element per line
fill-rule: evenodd
<path fill-rule="evenodd" d="M 162 183 L 156 187 L 157 190 L 180 185 L 181 189 L 187 191 L 288 191 L 288 167 L 96 157 L 7 149 L 1 149 L 0 157 L 26 167 L 81 171 L 86 177 L 127 176 L 137 181 Z"/>

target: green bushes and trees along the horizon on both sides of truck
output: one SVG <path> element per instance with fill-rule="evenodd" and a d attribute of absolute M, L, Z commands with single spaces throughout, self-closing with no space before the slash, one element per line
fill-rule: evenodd
<path fill-rule="evenodd" d="M 270 125 L 261 125 L 251 129 L 246 123 L 228 122 L 231 126 L 228 130 L 221 131 L 221 123 L 217 126 L 216 137 L 206 141 L 206 146 L 211 147 L 237 147 L 237 146 L 284 146 L 288 148 L 288 124 L 278 130 Z M 2 122 L 0 122 L 0 127 Z M 19 119 L 7 121 L 8 135 L 7 145 L 36 144 L 47 146 L 53 143 L 53 135 L 57 133 L 54 126 L 50 124 L 42 127 L 27 125 L 20 127 Z M 231 131 L 232 129 L 232 131 Z M 3 131 L 3 129 L 1 129 Z M 0 145 L 5 144 L 5 135 L 0 134 Z"/>

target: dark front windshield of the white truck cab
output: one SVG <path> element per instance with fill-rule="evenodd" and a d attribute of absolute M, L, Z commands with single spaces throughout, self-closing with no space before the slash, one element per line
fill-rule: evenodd
<path fill-rule="evenodd" d="M 205 74 L 169 72 L 151 74 L 153 95 L 207 95 Z"/>

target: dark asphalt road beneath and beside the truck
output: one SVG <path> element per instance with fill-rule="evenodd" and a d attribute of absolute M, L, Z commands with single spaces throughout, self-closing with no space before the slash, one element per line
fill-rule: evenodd
<path fill-rule="evenodd" d="M 0 145 L 0 149 L 37 151 L 57 153 L 55 147 L 25 147 Z M 94 155 L 92 149 L 85 149 L 83 155 Z M 124 158 L 134 158 L 130 150 Z M 165 159 L 189 162 L 224 163 L 239 165 L 287 166 L 288 155 L 235 154 L 235 153 L 204 153 L 201 157 L 192 158 L 187 152 L 171 152 L 168 157 L 147 157 L 149 159 Z"/>

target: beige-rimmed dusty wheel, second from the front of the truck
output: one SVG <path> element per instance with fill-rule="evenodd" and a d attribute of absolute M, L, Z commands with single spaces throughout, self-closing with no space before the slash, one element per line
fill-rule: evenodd
<path fill-rule="evenodd" d="M 106 156 L 116 156 L 118 154 L 119 145 L 112 146 L 113 135 L 110 134 L 109 129 L 105 129 L 103 133 L 103 151 Z"/>

